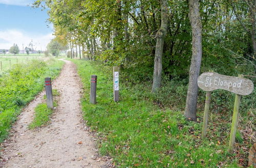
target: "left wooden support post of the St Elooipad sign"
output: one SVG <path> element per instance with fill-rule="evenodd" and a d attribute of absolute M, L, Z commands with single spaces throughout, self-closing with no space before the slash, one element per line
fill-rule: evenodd
<path fill-rule="evenodd" d="M 214 71 L 209 70 L 209 72 L 214 72 Z M 206 92 L 205 106 L 204 106 L 203 129 L 202 129 L 202 139 L 205 138 L 206 134 L 207 134 L 207 124 L 208 124 L 208 116 L 209 116 L 209 109 L 210 109 L 210 98 L 211 98 L 211 92 Z"/>

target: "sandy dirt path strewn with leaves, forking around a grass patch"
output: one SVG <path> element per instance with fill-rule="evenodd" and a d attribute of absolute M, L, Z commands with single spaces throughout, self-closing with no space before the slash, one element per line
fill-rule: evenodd
<path fill-rule="evenodd" d="M 37 131 L 27 129 L 43 92 L 24 109 L 10 139 L 2 144 L 2 157 L 8 160 L 4 167 L 108 167 L 106 159 L 97 156 L 95 139 L 81 120 L 82 90 L 75 65 L 65 62 L 53 82 L 60 96 L 51 124 Z"/>

